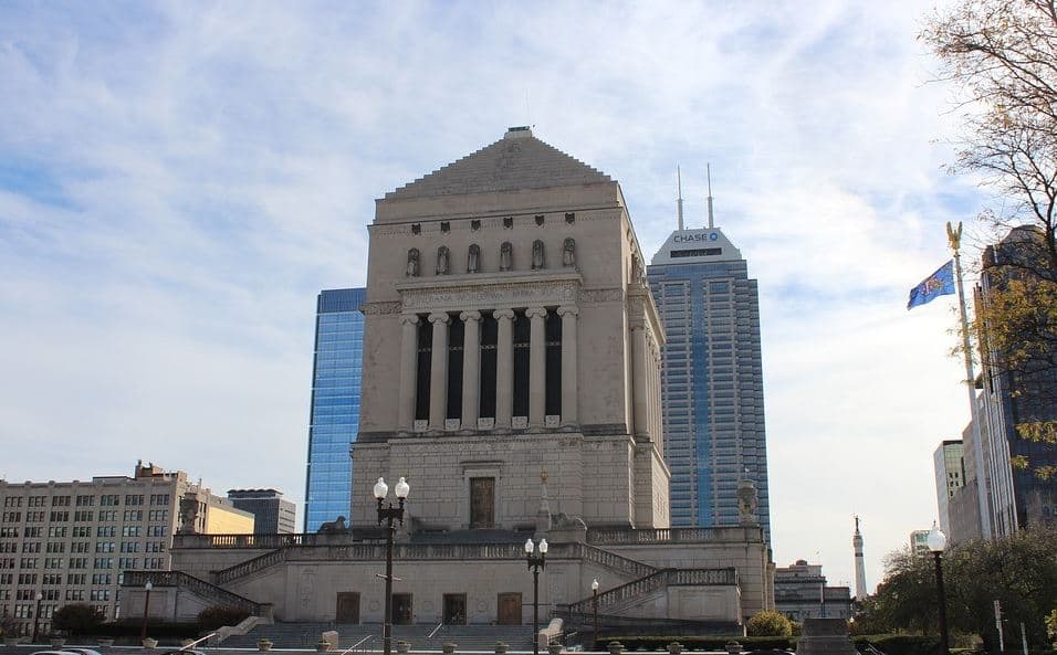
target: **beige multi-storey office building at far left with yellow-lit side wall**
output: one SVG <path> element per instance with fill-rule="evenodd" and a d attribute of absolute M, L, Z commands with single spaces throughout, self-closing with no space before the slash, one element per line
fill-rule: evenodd
<path fill-rule="evenodd" d="M 127 570 L 169 570 L 174 532 L 251 533 L 253 516 L 236 509 L 182 471 L 136 465 L 133 477 L 90 482 L 0 479 L 0 615 L 32 632 L 69 603 L 90 603 L 119 619 Z"/>

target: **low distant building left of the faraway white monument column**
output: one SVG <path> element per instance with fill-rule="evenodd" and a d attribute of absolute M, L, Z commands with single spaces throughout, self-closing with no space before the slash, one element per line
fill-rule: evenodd
<path fill-rule="evenodd" d="M 851 619 L 851 589 L 827 585 L 821 564 L 796 560 L 774 571 L 774 609 L 797 622 Z"/>

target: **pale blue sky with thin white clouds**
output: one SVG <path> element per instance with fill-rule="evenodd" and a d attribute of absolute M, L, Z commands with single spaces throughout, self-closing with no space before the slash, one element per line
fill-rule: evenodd
<path fill-rule="evenodd" d="M 953 296 L 907 295 L 994 201 L 948 171 L 934 6 L 0 4 L 0 477 L 142 458 L 300 505 L 316 294 L 365 283 L 376 198 L 532 125 L 648 257 L 711 163 L 761 292 L 774 560 L 850 583 L 858 515 L 872 588 L 969 421 Z"/>

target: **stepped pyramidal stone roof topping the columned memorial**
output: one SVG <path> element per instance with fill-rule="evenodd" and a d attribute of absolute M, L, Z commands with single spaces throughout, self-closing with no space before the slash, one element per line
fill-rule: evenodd
<path fill-rule="evenodd" d="M 611 182 L 609 176 L 512 127 L 502 139 L 414 182 L 386 193 L 386 200 L 546 189 Z"/>

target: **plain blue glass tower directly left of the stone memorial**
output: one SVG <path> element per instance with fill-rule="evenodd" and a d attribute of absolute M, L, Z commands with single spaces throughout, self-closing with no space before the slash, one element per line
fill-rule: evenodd
<path fill-rule="evenodd" d="M 320 293 L 316 303 L 305 531 L 352 516 L 353 466 L 349 446 L 359 430 L 359 387 L 364 358 L 365 288 Z"/>

